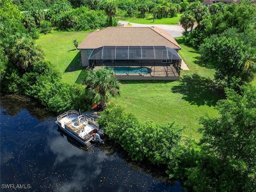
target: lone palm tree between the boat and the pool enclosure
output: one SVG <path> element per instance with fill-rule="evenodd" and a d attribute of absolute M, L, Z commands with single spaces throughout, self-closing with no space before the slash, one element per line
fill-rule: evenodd
<path fill-rule="evenodd" d="M 86 93 L 102 108 L 110 98 L 120 95 L 120 84 L 114 73 L 113 69 L 102 66 L 99 70 L 90 70 L 86 78 Z"/>

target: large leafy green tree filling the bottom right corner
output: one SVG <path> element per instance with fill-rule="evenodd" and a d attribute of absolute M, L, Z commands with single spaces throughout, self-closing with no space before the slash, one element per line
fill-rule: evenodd
<path fill-rule="evenodd" d="M 201 166 L 198 176 L 212 178 L 211 191 L 255 191 L 256 87 L 245 84 L 239 92 L 226 89 L 226 95 L 217 104 L 219 117 L 200 118 L 200 145 L 217 163 L 207 176 L 206 167 Z"/>

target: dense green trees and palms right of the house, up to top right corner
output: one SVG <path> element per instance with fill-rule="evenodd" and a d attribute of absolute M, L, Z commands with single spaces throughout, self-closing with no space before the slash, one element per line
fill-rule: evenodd
<path fill-rule="evenodd" d="M 185 29 L 184 39 L 199 48 L 200 62 L 212 66 L 216 70 L 216 81 L 224 86 L 254 80 L 255 17 L 256 4 L 242 0 L 240 4 L 212 4 L 209 9 L 193 2 L 180 18 Z M 195 22 L 197 26 L 193 29 Z"/>

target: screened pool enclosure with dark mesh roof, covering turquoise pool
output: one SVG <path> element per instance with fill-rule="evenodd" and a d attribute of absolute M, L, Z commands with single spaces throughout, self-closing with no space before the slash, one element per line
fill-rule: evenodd
<path fill-rule="evenodd" d="M 103 46 L 89 57 L 91 68 L 104 65 L 118 76 L 145 77 L 179 77 L 181 60 L 176 50 L 167 46 Z"/>

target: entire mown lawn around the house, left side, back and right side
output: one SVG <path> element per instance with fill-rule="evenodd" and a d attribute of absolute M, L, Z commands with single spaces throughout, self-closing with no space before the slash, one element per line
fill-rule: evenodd
<path fill-rule="evenodd" d="M 80 53 L 74 50 L 72 42 L 74 39 L 82 42 L 87 34 L 54 32 L 37 40 L 37 44 L 44 48 L 46 60 L 62 72 L 64 81 L 71 84 L 82 82 L 87 74 L 84 68 L 78 67 Z M 121 82 L 121 96 L 111 102 L 123 106 L 142 121 L 153 120 L 160 124 L 175 121 L 180 126 L 186 126 L 186 138 L 198 140 L 198 117 L 204 114 L 218 116 L 214 106 L 222 97 L 212 83 L 214 70 L 200 65 L 199 54 L 184 44 L 182 38 L 176 40 L 182 47 L 179 54 L 190 68 L 190 71 L 181 71 L 180 81 L 124 81 Z"/>

